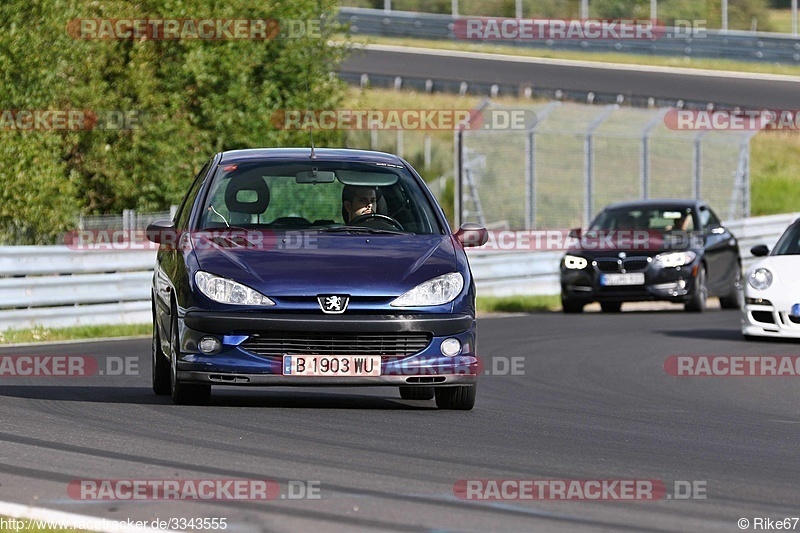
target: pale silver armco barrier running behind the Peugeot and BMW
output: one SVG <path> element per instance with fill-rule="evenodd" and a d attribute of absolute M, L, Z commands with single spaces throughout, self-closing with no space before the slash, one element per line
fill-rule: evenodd
<path fill-rule="evenodd" d="M 733 221 L 745 269 L 756 244 L 774 246 L 800 213 Z M 561 251 L 470 249 L 478 292 L 558 294 Z M 150 321 L 155 250 L 88 251 L 66 246 L 0 247 L 0 330 Z"/>

